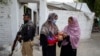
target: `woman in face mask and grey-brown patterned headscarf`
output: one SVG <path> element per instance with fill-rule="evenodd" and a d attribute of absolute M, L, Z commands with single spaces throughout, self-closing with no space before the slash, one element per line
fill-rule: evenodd
<path fill-rule="evenodd" d="M 52 36 L 58 34 L 58 28 L 55 24 L 58 16 L 55 13 L 50 13 L 47 21 L 42 25 L 40 33 L 40 44 L 42 45 L 43 56 L 56 56 L 56 39 L 52 44 L 48 43 Z M 49 40 L 48 40 L 49 39 Z"/>

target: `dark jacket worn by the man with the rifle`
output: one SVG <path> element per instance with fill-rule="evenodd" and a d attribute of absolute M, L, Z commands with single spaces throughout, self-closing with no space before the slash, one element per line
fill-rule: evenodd
<path fill-rule="evenodd" d="M 28 23 L 24 24 L 21 29 L 21 36 L 24 42 L 29 40 L 33 40 L 35 36 L 35 25 L 29 21 Z"/>

